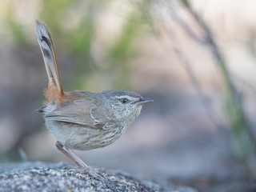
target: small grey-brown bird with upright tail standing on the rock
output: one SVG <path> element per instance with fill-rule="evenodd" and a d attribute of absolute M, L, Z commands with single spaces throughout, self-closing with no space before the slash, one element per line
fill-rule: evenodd
<path fill-rule="evenodd" d="M 153 100 L 142 98 L 131 90 L 64 92 L 50 32 L 39 21 L 36 31 L 49 78 L 46 103 L 38 111 L 44 115 L 50 134 L 57 139 L 58 150 L 82 170 L 97 177 L 98 174 L 92 172 L 73 150 L 92 150 L 110 145 L 138 117 L 142 104 Z"/>

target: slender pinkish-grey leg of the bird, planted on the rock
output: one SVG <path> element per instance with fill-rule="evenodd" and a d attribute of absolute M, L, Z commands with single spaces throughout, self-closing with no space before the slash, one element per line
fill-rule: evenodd
<path fill-rule="evenodd" d="M 74 153 L 74 151 L 69 146 L 62 145 L 61 142 L 56 142 L 56 147 L 58 150 L 60 150 L 63 154 L 66 154 L 68 158 L 70 158 L 75 164 L 77 164 L 80 168 L 82 168 L 83 171 L 86 171 L 86 173 L 90 174 L 94 178 L 103 179 L 102 176 L 94 173 L 93 170 L 90 170 L 89 166 L 86 166 L 86 163 L 82 161 L 81 158 L 78 157 L 77 154 Z"/>

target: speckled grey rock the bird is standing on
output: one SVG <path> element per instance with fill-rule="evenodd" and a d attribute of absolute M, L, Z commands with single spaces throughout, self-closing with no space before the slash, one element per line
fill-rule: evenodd
<path fill-rule="evenodd" d="M 63 167 L 64 166 L 64 167 Z M 122 171 L 94 169 L 98 180 L 64 163 L 22 162 L 0 166 L 0 191 L 170 191 L 195 192 L 189 187 L 173 188 L 134 178 Z"/>

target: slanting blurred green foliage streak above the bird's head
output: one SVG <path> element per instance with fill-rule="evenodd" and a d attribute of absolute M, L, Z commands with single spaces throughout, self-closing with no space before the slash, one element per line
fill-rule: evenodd
<path fill-rule="evenodd" d="M 120 77 L 114 83 L 118 89 L 122 89 L 123 86 L 129 86 L 126 80 L 130 76 L 131 69 L 126 63 L 129 63 L 130 58 L 137 56 L 139 51 L 138 40 L 142 38 L 142 32 L 145 33 L 145 29 L 148 26 L 147 29 L 155 32 L 150 6 L 151 1 L 149 0 L 143 0 L 136 4 L 136 9 L 131 11 L 126 17 L 122 34 L 116 39 L 114 45 L 109 50 L 107 56 L 109 66 L 115 71 L 115 76 Z"/>

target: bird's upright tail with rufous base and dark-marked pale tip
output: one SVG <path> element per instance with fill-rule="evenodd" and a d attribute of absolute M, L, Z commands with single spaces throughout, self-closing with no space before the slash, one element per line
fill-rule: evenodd
<path fill-rule="evenodd" d="M 50 31 L 44 22 L 36 21 L 36 31 L 38 34 L 38 44 L 42 51 L 42 57 L 45 62 L 47 76 L 49 78 L 48 90 L 46 98 L 48 102 L 61 102 L 64 96 L 62 82 L 56 61 L 54 43 L 52 41 Z"/>

